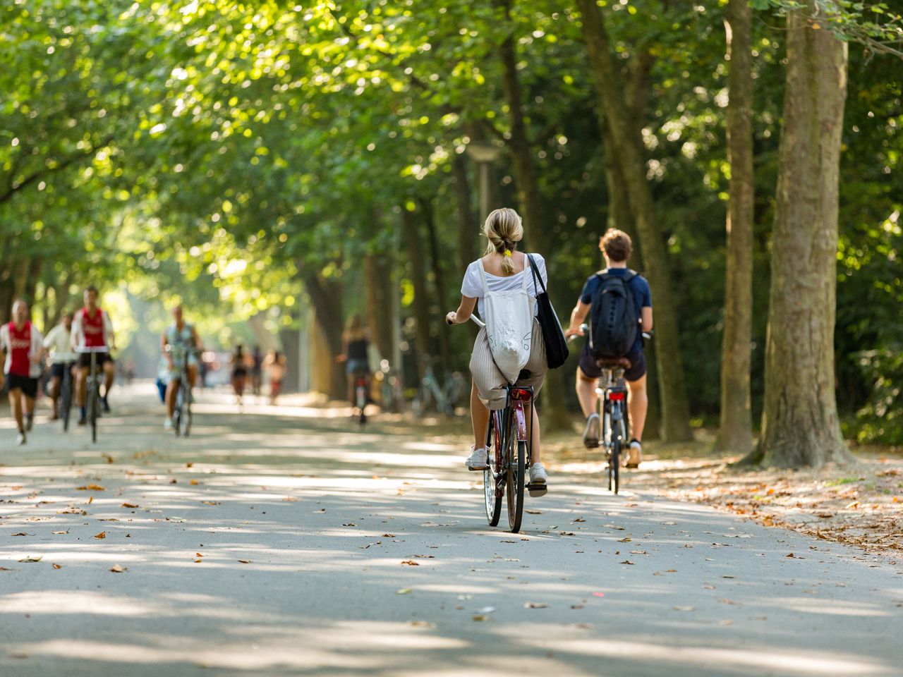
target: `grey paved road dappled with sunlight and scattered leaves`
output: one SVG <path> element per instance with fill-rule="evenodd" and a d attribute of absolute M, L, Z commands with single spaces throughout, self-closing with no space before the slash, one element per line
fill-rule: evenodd
<path fill-rule="evenodd" d="M 116 403 L 0 428 L 0 675 L 903 674 L 887 560 L 561 475 L 513 535 L 439 431 Z"/>

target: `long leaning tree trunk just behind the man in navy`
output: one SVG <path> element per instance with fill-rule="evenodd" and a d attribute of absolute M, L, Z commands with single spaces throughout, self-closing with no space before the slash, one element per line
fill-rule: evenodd
<path fill-rule="evenodd" d="M 652 191 L 646 179 L 646 163 L 640 152 L 642 142 L 630 108 L 619 95 L 624 88 L 610 51 L 608 33 L 596 0 L 577 0 L 582 14 L 582 34 L 590 56 L 591 70 L 599 92 L 603 115 L 610 126 L 610 138 L 627 187 L 630 208 L 647 264 L 649 283 L 656 298 L 656 359 L 662 404 L 662 435 L 666 441 L 693 439 L 690 412 L 684 386 L 684 366 L 680 355 L 677 313 L 671 270 L 665 242 L 658 229 Z"/>

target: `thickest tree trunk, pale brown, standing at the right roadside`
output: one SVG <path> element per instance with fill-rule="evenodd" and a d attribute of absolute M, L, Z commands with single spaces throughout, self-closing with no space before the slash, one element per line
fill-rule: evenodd
<path fill-rule="evenodd" d="M 834 393 L 838 174 L 847 45 L 815 0 L 787 14 L 787 87 L 771 245 L 765 404 L 749 460 L 821 466 L 853 456 Z"/>

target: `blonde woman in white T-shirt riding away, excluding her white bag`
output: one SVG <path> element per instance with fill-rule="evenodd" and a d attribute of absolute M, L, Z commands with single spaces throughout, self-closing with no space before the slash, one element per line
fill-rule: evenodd
<path fill-rule="evenodd" d="M 446 316 L 449 324 L 461 324 L 470 320 L 474 306 L 479 301 L 479 314 L 485 318 L 483 309 L 484 281 L 489 292 L 504 292 L 519 289 L 523 284 L 523 276 L 528 276 L 526 291 L 535 299 L 536 288 L 533 275 L 528 270 L 526 254 L 517 251 L 517 243 L 524 237 L 524 227 L 520 216 L 514 209 L 496 209 L 489 214 L 483 225 L 483 236 L 489 240 L 486 254 L 471 263 L 461 283 L 461 305 L 457 311 Z M 548 286 L 545 273 L 545 259 L 534 254 L 536 274 Z M 480 265 L 482 264 L 482 265 Z M 535 301 L 534 314 L 535 314 Z M 489 350 L 489 338 L 484 327 L 479 330 L 470 356 L 470 373 L 473 384 L 470 388 L 470 419 L 473 424 L 473 446 L 470 458 L 465 465 L 469 470 L 487 468 L 486 428 L 489 424 L 489 410 L 503 409 L 506 405 L 507 379 L 502 375 Z M 517 385 L 533 386 L 534 400 L 545 382 L 545 341 L 539 322 L 533 320 L 533 334 L 530 339 L 530 357 L 521 372 L 524 378 L 518 378 Z M 543 496 L 547 480 L 545 468 L 540 462 L 539 418 L 533 402 L 526 405 L 532 416 L 532 459 L 530 466 L 530 495 Z"/>

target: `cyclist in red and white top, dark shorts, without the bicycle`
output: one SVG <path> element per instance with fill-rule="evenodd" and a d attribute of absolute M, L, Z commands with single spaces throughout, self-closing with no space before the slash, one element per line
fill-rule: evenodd
<path fill-rule="evenodd" d="M 116 369 L 113 366 L 113 358 L 110 357 L 110 348 L 116 348 L 116 337 L 113 334 L 113 323 L 110 321 L 107 311 L 103 311 L 98 306 L 98 288 L 90 286 L 85 290 L 85 307 L 75 313 L 72 319 L 72 348 L 75 352 L 79 352 L 79 348 L 107 348 L 103 352 L 98 352 L 97 363 L 102 367 L 105 375 L 104 394 L 100 398 L 104 411 L 109 412 L 110 407 L 107 398 L 110 394 L 110 388 L 113 387 L 113 378 L 116 376 Z M 81 353 L 79 355 L 79 368 L 76 372 L 75 395 L 76 402 L 81 408 L 79 416 L 79 425 L 85 425 L 87 422 L 87 412 L 85 410 L 85 395 L 88 384 L 88 373 L 91 370 L 90 353 Z"/>

